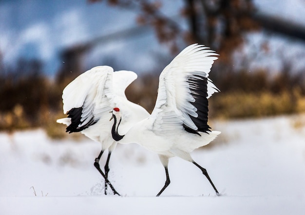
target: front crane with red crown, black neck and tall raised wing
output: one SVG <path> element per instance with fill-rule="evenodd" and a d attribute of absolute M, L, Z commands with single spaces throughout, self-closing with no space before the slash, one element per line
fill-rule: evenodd
<path fill-rule="evenodd" d="M 219 131 L 210 131 L 208 125 L 208 98 L 219 91 L 208 78 L 210 68 L 217 59 L 215 55 L 218 54 L 198 44 L 190 45 L 178 54 L 160 74 L 152 115 L 134 124 L 128 132 L 124 133 L 120 126 L 125 107 L 116 106 L 113 109 L 114 140 L 118 143 L 138 143 L 159 155 L 166 181 L 157 196 L 170 184 L 168 162 L 173 156 L 200 168 L 219 195 L 207 170 L 190 155 L 191 151 L 209 144 L 220 134 Z"/>

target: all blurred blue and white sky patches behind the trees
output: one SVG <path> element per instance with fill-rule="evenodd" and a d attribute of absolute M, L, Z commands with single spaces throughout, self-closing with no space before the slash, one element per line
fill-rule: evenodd
<path fill-rule="evenodd" d="M 177 16 L 183 0 L 162 1 L 163 13 Z M 304 0 L 254 0 L 262 13 L 289 18 L 305 25 Z M 119 7 L 110 7 L 106 2 L 89 4 L 86 0 L 1 0 L 0 1 L 0 52 L 4 64 L 12 65 L 20 57 L 41 59 L 44 71 L 54 75 L 61 64 L 59 53 L 66 47 L 90 41 L 99 36 L 109 35 L 137 26 L 137 14 Z M 185 20 L 181 21 L 182 25 Z M 268 35 L 267 35 L 268 36 Z M 278 46 L 276 36 L 272 41 Z M 254 43 L 265 40 L 266 35 L 249 36 Z M 282 41 L 282 42 L 281 42 Z M 286 40 L 279 41 L 282 46 Z M 295 49 L 304 50 L 304 43 L 290 44 Z M 284 43 L 284 44 L 283 44 Z M 298 48 L 299 47 L 299 48 Z M 245 47 L 244 52 L 251 49 Z M 274 52 L 278 52 L 275 49 Z M 157 54 L 169 54 L 169 50 L 158 44 L 151 28 L 131 38 L 114 38 L 95 47 L 86 56 L 87 66 L 96 66 L 102 59 L 115 59 L 117 65 L 136 72 L 150 71 L 155 67 Z M 288 53 L 289 55 L 289 53 Z M 136 63 L 134 62 L 136 59 Z M 273 61 L 273 67 L 279 65 Z M 259 63 L 261 64 L 261 63 Z M 269 61 L 265 61 L 269 64 Z M 255 63 L 253 64 L 256 65 Z"/>

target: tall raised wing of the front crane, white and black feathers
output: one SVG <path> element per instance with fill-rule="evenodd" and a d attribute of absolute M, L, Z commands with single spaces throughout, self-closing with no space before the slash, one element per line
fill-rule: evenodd
<path fill-rule="evenodd" d="M 219 91 L 208 78 L 215 55 L 209 48 L 193 44 L 161 72 L 151 116 L 155 130 L 170 132 L 184 127 L 196 134 L 209 131 L 208 98 Z"/>

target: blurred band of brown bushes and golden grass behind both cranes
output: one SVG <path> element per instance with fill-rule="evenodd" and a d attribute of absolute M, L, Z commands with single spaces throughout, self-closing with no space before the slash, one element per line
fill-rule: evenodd
<path fill-rule="evenodd" d="M 15 69 L 2 70 L 0 80 L 0 130 L 45 127 L 50 136 L 62 137 L 64 125 L 61 93 L 66 83 L 48 79 L 37 61 L 19 61 Z M 211 74 L 219 74 L 212 71 Z M 227 72 L 211 77 L 220 93 L 210 98 L 213 118 L 263 117 L 305 111 L 305 79 L 302 73 L 267 71 Z M 127 97 L 152 111 L 159 73 L 140 74 L 126 90 Z M 57 79 L 58 80 L 58 79 Z"/>

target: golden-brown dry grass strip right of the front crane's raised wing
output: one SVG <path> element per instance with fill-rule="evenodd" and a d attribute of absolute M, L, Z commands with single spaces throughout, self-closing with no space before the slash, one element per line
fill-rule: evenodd
<path fill-rule="evenodd" d="M 305 111 L 305 97 L 297 92 L 231 92 L 217 94 L 210 100 L 210 115 L 221 119 L 264 117 Z"/>

